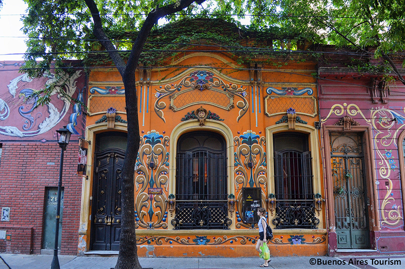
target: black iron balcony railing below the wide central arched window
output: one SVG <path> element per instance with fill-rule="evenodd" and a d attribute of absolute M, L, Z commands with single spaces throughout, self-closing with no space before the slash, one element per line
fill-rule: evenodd
<path fill-rule="evenodd" d="M 176 215 L 172 220 L 175 230 L 223 229 L 229 230 L 227 200 L 176 201 Z"/>

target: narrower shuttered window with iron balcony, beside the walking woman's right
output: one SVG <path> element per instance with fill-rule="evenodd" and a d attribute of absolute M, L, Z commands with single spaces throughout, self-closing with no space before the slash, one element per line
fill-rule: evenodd
<path fill-rule="evenodd" d="M 273 135 L 277 229 L 314 229 L 313 174 L 308 136 L 299 132 Z"/>

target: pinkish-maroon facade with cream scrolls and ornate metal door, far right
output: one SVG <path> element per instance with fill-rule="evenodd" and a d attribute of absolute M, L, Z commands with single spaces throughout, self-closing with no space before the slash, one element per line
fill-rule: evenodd
<path fill-rule="evenodd" d="M 405 86 L 343 66 L 320 65 L 319 74 L 327 207 L 333 209 L 328 252 L 403 253 Z"/>

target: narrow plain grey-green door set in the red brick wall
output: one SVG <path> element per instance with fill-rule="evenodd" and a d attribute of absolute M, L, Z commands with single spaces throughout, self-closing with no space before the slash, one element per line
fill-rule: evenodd
<path fill-rule="evenodd" d="M 50 187 L 45 191 L 45 210 L 44 210 L 44 237 L 42 241 L 43 249 L 55 248 L 55 228 L 56 228 L 56 208 L 58 203 L 58 188 Z M 60 201 L 60 220 L 59 220 L 59 242 L 62 238 L 62 220 L 63 220 L 63 189 Z"/>

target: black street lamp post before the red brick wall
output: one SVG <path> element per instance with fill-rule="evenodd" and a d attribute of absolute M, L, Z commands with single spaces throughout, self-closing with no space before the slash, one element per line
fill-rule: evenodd
<path fill-rule="evenodd" d="M 54 247 L 54 257 L 51 263 L 51 269 L 60 269 L 59 259 L 58 259 L 58 243 L 59 243 L 59 219 L 60 219 L 60 196 L 62 192 L 62 168 L 63 168 L 63 152 L 66 150 L 67 144 L 69 144 L 70 135 L 72 134 L 66 126 L 57 130 L 60 133 L 60 138 L 58 141 L 59 147 L 61 148 L 60 153 L 60 165 L 59 165 L 59 182 L 58 182 L 58 202 L 56 207 L 56 229 L 55 229 L 55 247 Z"/>

